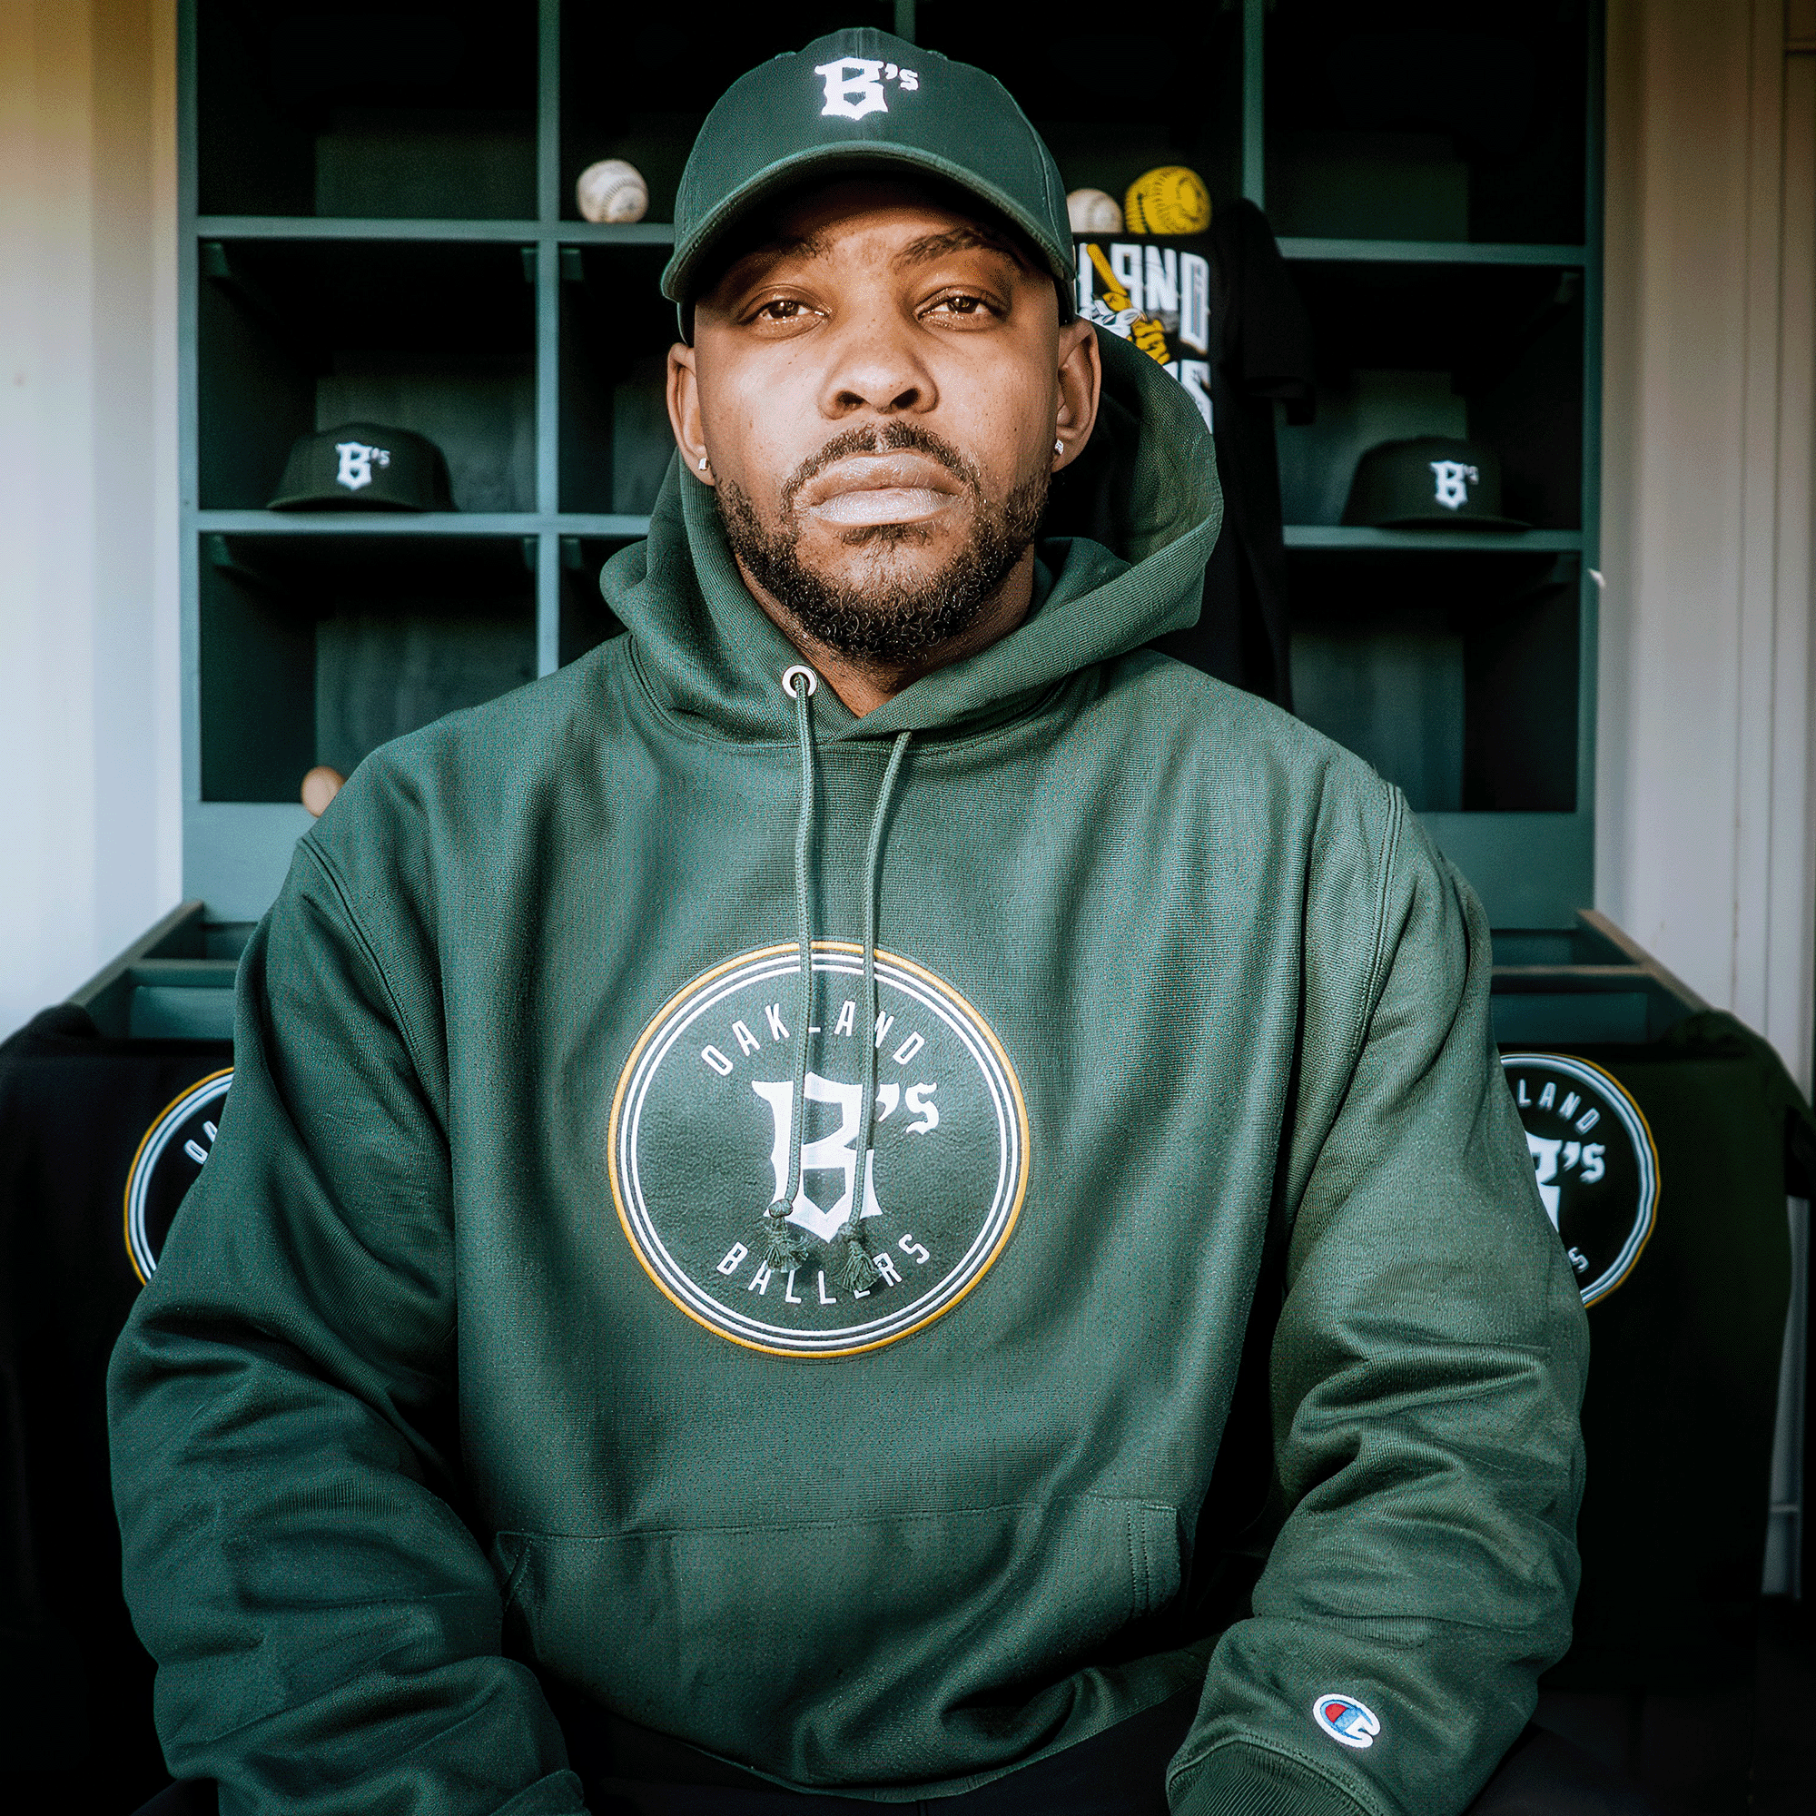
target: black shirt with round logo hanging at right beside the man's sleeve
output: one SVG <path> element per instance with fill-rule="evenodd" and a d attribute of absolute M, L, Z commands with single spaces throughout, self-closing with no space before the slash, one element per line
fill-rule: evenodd
<path fill-rule="evenodd" d="M 1732 1015 L 1645 1046 L 1509 1051 L 1538 1193 L 1589 1306 L 1567 1691 L 1752 1669 L 1791 1235 L 1816 1119 Z"/>

